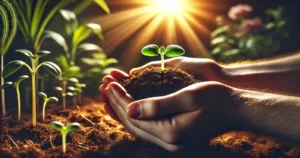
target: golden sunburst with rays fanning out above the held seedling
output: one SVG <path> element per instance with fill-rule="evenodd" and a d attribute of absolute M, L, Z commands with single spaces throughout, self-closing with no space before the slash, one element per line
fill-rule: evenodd
<path fill-rule="evenodd" d="M 209 37 L 201 21 L 214 23 L 216 15 L 207 11 L 211 6 L 205 0 L 118 0 L 109 5 L 135 6 L 92 19 L 102 25 L 106 52 L 121 52 L 125 69 L 139 64 L 140 50 L 147 44 L 184 45 L 188 56 L 210 57 L 199 32 Z"/>

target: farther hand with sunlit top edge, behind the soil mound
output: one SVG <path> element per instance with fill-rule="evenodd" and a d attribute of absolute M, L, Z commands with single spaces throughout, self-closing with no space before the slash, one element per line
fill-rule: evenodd
<path fill-rule="evenodd" d="M 134 74 L 135 72 L 149 66 L 160 66 L 160 64 L 161 61 L 150 62 L 144 66 L 132 69 L 130 74 Z M 165 65 L 181 68 L 189 73 L 201 77 L 203 81 L 218 81 L 224 83 L 223 81 L 226 76 L 225 68 L 211 59 L 177 57 L 166 60 Z"/>

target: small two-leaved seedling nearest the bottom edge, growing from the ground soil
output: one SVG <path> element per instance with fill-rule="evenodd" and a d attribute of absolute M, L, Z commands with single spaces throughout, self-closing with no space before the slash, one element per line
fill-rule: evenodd
<path fill-rule="evenodd" d="M 79 131 L 80 130 L 80 124 L 77 122 L 71 123 L 67 126 L 65 126 L 63 123 L 59 121 L 51 122 L 50 127 L 54 130 L 57 130 L 62 135 L 62 151 L 63 153 L 67 152 L 67 134 L 72 131 Z"/>

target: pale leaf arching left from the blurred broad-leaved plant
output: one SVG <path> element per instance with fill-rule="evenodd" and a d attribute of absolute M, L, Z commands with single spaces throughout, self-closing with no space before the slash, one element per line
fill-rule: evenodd
<path fill-rule="evenodd" d="M 45 32 L 43 33 L 43 40 L 44 39 L 52 39 L 55 43 L 57 43 L 59 46 L 63 48 L 64 53 L 69 52 L 69 47 L 65 38 L 59 33 L 51 30 L 45 30 Z"/>

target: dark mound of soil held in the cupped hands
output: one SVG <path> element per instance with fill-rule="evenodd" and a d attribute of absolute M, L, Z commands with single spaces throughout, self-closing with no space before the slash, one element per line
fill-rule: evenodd
<path fill-rule="evenodd" d="M 178 68 L 149 67 L 122 80 L 120 84 L 136 100 L 164 96 L 200 82 L 198 78 Z"/>

